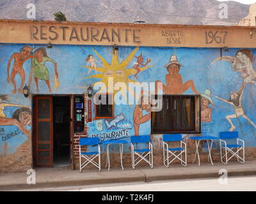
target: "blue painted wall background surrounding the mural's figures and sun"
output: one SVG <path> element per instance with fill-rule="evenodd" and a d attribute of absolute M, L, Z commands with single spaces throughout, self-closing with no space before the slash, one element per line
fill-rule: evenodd
<path fill-rule="evenodd" d="M 52 62 L 45 62 L 45 67 L 49 70 L 49 80 L 51 84 L 52 94 L 82 94 L 86 92 L 87 86 L 99 82 L 102 80 L 103 75 L 95 75 L 95 71 L 92 70 L 88 75 L 88 68 L 83 66 L 91 66 L 90 63 L 87 64 L 85 61 L 88 55 L 92 54 L 97 61 L 95 62 L 99 68 L 102 68 L 102 59 L 105 59 L 106 62 L 111 64 L 111 59 L 113 57 L 113 48 L 112 47 L 100 47 L 100 46 L 73 46 L 73 45 L 54 45 L 52 49 L 47 49 L 46 45 L 28 45 L 30 48 L 44 47 L 48 57 L 57 62 L 58 68 L 58 82 L 59 87 L 54 89 L 54 64 Z M 0 62 L 1 62 L 1 77 L 0 77 L 0 95 L 3 96 L 6 94 L 8 96 L 8 101 L 2 101 L 6 104 L 20 105 L 31 107 L 31 99 L 24 98 L 23 94 L 17 92 L 12 93 L 13 85 L 8 83 L 7 78 L 7 64 L 8 60 L 13 53 L 20 52 L 20 48 L 24 45 L 0 45 Z M 118 62 L 121 63 L 132 51 L 136 49 L 135 47 L 119 47 L 118 51 Z M 35 51 L 34 50 L 34 51 Z M 236 57 L 237 51 L 241 50 L 240 48 L 229 49 L 228 52 L 222 52 L 223 56 Z M 253 56 L 255 55 L 255 49 L 251 50 Z M 147 62 L 147 59 L 150 59 L 150 62 L 147 66 L 149 68 L 138 73 L 138 78 L 134 75 L 127 75 L 126 77 L 135 82 L 156 82 L 160 80 L 166 84 L 166 75 L 168 74 L 164 66 L 170 61 L 171 55 L 176 55 L 182 67 L 180 68 L 179 74 L 182 76 L 183 83 L 193 80 L 196 90 L 200 94 L 204 94 L 206 89 L 211 90 L 211 98 L 214 103 L 209 105 L 212 112 L 211 122 L 202 122 L 202 133 L 209 134 L 212 136 L 218 136 L 218 133 L 221 131 L 228 131 L 230 129 L 230 124 L 226 119 L 227 115 L 234 114 L 234 109 L 232 105 L 221 101 L 220 99 L 214 97 L 219 96 L 223 99 L 228 99 L 230 92 L 238 91 L 243 85 L 244 78 L 240 77 L 241 73 L 232 69 L 232 63 L 225 60 L 216 61 L 212 66 L 211 62 L 220 57 L 221 52 L 220 48 L 161 48 L 161 47 L 140 47 L 131 58 L 131 61 L 124 67 L 126 69 L 132 69 L 134 63 L 137 61 L 136 57 L 142 53 L 144 62 Z M 100 56 L 102 59 L 100 59 Z M 230 58 L 231 59 L 231 58 Z M 87 64 L 87 65 L 86 65 Z M 252 68 L 256 66 L 255 62 L 252 64 Z M 140 66 L 142 68 L 143 66 Z M 10 66 L 10 73 L 13 68 L 13 61 Z M 28 59 L 24 62 L 22 68 L 25 71 L 25 83 L 28 84 L 29 73 L 31 71 L 31 59 Z M 103 66 L 104 69 L 104 66 Z M 102 70 L 103 70 L 102 69 Z M 100 69 L 99 69 L 100 70 Z M 99 74 L 100 71 L 98 70 Z M 142 70 L 142 69 L 141 69 Z M 109 71 L 109 70 L 108 70 Z M 132 73 L 132 72 L 131 72 Z M 89 77 L 89 78 L 86 78 Z M 253 80 L 255 80 L 253 78 Z M 20 86 L 21 78 L 19 75 L 15 76 L 15 82 L 17 83 L 17 89 Z M 242 99 L 242 105 L 244 111 L 252 122 L 256 122 L 255 114 L 255 87 L 254 82 L 246 84 L 244 88 L 244 94 Z M 31 92 L 36 93 L 36 86 L 34 80 L 31 82 Z M 44 82 L 44 80 L 39 80 L 39 91 L 38 94 L 50 94 L 49 90 Z M 116 93 L 117 96 L 120 92 Z M 191 89 L 183 92 L 183 94 L 194 94 Z M 94 117 L 94 105 L 92 106 L 92 117 Z M 111 128 L 107 127 L 107 123 L 113 119 L 100 119 L 93 120 L 88 123 L 88 135 L 89 136 L 100 136 L 100 139 L 106 140 L 108 137 L 106 133 L 115 132 L 116 138 L 122 138 L 122 140 L 130 141 L 130 136 L 135 135 L 134 133 L 134 123 L 133 123 L 133 112 L 136 105 L 115 105 L 115 126 Z M 12 119 L 13 112 L 19 107 L 15 106 L 4 106 L 4 109 L 1 110 L 5 114 L 6 119 Z M 148 112 L 143 110 L 143 115 L 147 115 Z M 4 120 L 2 120 L 4 121 Z M 253 135 L 253 132 L 244 136 L 241 133 L 241 129 L 237 123 L 237 119 L 232 119 L 236 129 L 241 138 L 244 139 L 246 147 L 255 147 L 256 138 Z M 102 129 L 97 129 L 97 124 L 102 124 Z M 31 129 L 31 126 L 26 125 L 27 131 Z M 246 131 L 253 130 L 256 131 L 252 125 L 245 126 Z M 16 132 L 15 132 L 16 131 Z M 6 139 L 6 136 L 10 133 L 15 132 L 15 134 Z M 104 137 L 105 133 L 105 137 Z M 139 135 L 148 135 L 150 134 L 150 120 L 140 125 Z M 31 136 L 25 135 L 20 131 L 18 126 L 10 125 L 5 126 L 3 122 L 1 123 L 0 119 L 0 155 L 12 154 L 17 150 L 17 147 L 24 143 L 26 140 L 31 140 Z M 187 135 L 184 135 L 186 137 Z M 157 138 L 159 136 L 156 136 Z M 111 139 L 115 139 L 112 137 Z M 4 148 L 5 143 L 8 143 L 7 149 Z M 124 152 L 129 152 L 129 145 L 125 146 Z"/>

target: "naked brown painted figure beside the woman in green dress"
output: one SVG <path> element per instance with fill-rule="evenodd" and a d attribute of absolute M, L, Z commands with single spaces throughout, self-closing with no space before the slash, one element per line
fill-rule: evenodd
<path fill-rule="evenodd" d="M 15 52 L 12 54 L 11 58 L 8 61 L 8 65 L 7 65 L 7 82 L 10 83 L 12 82 L 14 90 L 12 91 L 13 94 L 15 94 L 17 92 L 17 88 L 16 88 L 16 82 L 15 82 L 15 76 L 17 74 L 20 75 L 21 77 L 21 84 L 19 87 L 19 92 L 22 93 L 22 87 L 24 85 L 25 82 L 25 71 L 23 69 L 23 63 L 25 61 L 27 61 L 28 59 L 31 59 L 33 56 L 31 56 L 31 51 L 33 49 L 30 48 L 29 46 L 24 46 L 20 49 L 20 52 Z M 14 63 L 13 63 L 13 68 L 12 68 L 12 73 L 11 73 L 11 77 L 9 75 L 9 71 L 10 71 L 10 65 L 12 60 L 14 59 Z"/>

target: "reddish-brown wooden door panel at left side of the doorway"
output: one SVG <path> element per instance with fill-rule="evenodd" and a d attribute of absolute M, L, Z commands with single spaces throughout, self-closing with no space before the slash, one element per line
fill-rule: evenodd
<path fill-rule="evenodd" d="M 35 97 L 35 163 L 36 166 L 52 166 L 52 97 Z"/>

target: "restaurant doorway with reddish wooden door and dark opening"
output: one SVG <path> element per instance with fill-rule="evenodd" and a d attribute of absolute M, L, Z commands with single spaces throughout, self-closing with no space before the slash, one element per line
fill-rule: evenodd
<path fill-rule="evenodd" d="M 33 96 L 33 163 L 35 166 L 72 164 L 73 96 Z"/>

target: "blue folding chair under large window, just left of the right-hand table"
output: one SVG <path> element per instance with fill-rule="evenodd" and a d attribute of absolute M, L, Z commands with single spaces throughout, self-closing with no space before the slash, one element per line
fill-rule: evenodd
<path fill-rule="evenodd" d="M 168 142 L 179 142 L 179 141 L 180 141 L 180 147 L 169 148 Z M 182 144 L 184 145 L 184 148 L 182 148 Z M 183 153 L 185 154 L 185 160 L 182 159 Z M 164 166 L 166 166 L 167 168 L 169 167 L 170 163 L 175 161 L 175 159 L 179 159 L 182 166 L 187 166 L 187 145 L 186 143 L 182 142 L 181 134 L 163 135 L 163 155 L 164 155 Z M 172 156 L 174 158 L 172 159 L 172 161 L 169 161 L 170 157 Z"/>

